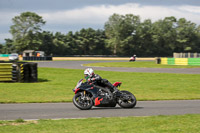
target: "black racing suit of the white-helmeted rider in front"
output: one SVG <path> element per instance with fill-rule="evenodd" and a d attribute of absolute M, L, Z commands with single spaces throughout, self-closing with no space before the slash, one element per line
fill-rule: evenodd
<path fill-rule="evenodd" d="M 87 82 L 93 83 L 104 88 L 108 88 L 111 92 L 115 90 L 115 86 L 112 85 L 107 79 L 102 79 L 98 74 L 94 74 Z"/>

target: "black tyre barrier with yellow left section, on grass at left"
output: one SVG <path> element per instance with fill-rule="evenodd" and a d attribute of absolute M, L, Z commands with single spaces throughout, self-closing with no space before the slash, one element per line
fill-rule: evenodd
<path fill-rule="evenodd" d="M 37 63 L 0 63 L 0 82 L 37 82 Z"/>

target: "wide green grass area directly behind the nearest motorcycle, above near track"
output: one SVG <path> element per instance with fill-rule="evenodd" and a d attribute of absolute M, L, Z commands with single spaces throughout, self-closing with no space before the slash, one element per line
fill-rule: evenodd
<path fill-rule="evenodd" d="M 200 99 L 199 74 L 95 71 L 138 100 Z M 38 83 L 0 83 L 0 103 L 71 102 L 83 70 L 39 68 Z"/>

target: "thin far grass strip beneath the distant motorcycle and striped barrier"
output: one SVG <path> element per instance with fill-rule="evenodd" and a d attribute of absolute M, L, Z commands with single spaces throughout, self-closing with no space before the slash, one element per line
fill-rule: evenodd
<path fill-rule="evenodd" d="M 97 66 L 97 67 L 140 67 L 140 68 L 200 68 L 200 66 L 162 65 L 162 64 L 156 64 L 155 61 L 102 62 L 102 63 L 84 64 L 84 66 Z"/>

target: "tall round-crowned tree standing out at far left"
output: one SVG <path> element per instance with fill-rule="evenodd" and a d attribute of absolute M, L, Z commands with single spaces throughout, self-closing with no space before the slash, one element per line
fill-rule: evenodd
<path fill-rule="evenodd" d="M 12 21 L 10 33 L 17 51 L 37 49 L 40 43 L 36 35 L 41 31 L 41 26 L 45 24 L 42 17 L 33 12 L 23 12 L 20 16 L 15 16 Z"/>

